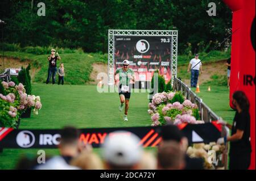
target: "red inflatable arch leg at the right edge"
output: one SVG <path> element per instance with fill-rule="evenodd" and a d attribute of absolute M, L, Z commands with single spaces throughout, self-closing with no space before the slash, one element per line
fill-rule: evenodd
<path fill-rule="evenodd" d="M 232 28 L 240 28 L 232 36 L 231 76 L 233 77 L 230 77 L 230 95 L 235 90 L 242 90 L 250 100 L 253 149 L 250 169 L 255 169 L 255 0 L 223 1 L 233 11 Z M 239 77 L 235 75 L 236 73 L 239 73 Z"/>

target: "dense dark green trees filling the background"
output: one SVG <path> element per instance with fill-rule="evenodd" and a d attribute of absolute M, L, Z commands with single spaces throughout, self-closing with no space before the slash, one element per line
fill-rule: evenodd
<path fill-rule="evenodd" d="M 5 41 L 27 53 L 49 45 L 105 53 L 109 29 L 178 30 L 179 53 L 186 55 L 208 52 L 230 35 L 232 13 L 218 0 L 45 0 L 46 16 L 38 16 L 39 2 L 0 2 Z M 209 2 L 216 3 L 216 16 L 208 15 Z M 40 47 L 36 52 L 46 53 Z"/>

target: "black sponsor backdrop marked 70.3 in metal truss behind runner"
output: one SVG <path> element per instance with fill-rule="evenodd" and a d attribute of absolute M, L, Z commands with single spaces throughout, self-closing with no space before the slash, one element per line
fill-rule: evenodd
<path fill-rule="evenodd" d="M 143 69 L 150 73 L 147 81 L 151 81 L 154 70 L 165 75 L 166 81 L 170 80 L 171 36 L 115 36 L 114 41 L 115 69 L 122 67 L 123 60 L 129 60 L 133 62 L 130 68 L 134 71 L 139 73 Z"/>

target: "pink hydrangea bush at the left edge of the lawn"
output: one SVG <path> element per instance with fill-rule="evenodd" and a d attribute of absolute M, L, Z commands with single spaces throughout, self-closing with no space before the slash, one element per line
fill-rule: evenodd
<path fill-rule="evenodd" d="M 2 82 L 5 90 L 0 94 L 0 127 L 15 128 L 19 116 L 27 109 L 32 108 L 37 115 L 42 108 L 40 97 L 27 95 L 22 83 Z"/>

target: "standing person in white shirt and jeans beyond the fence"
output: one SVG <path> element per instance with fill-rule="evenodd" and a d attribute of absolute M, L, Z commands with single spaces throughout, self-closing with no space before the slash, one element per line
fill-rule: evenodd
<path fill-rule="evenodd" d="M 203 74 L 201 60 L 199 59 L 199 55 L 196 54 L 195 58 L 193 58 L 188 64 L 188 72 L 191 71 L 191 87 L 196 87 L 197 85 L 199 69 L 201 74 Z"/>

